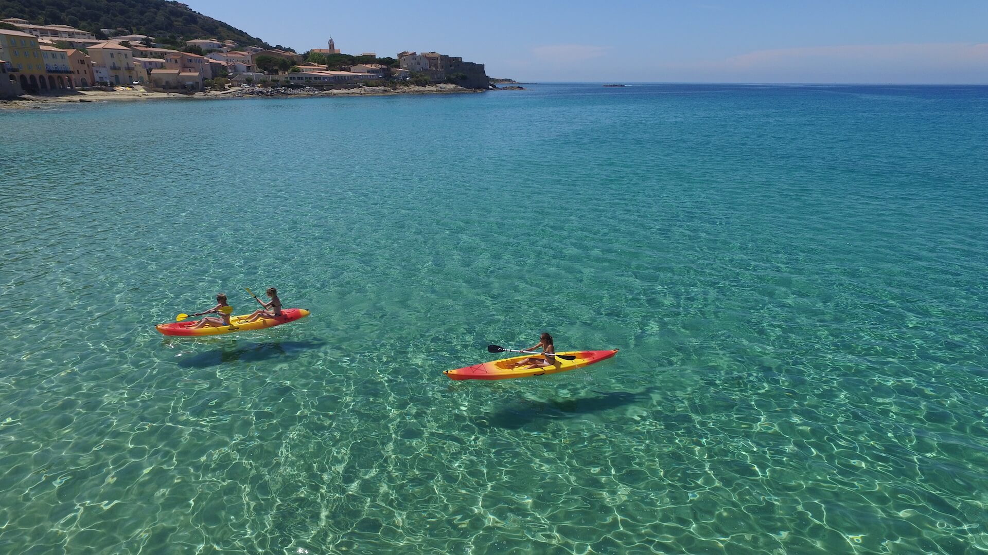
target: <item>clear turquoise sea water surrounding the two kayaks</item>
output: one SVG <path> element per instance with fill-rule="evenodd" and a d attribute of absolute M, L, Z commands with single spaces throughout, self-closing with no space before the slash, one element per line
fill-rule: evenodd
<path fill-rule="evenodd" d="M 0 113 L 0 552 L 988 550 L 988 89 Z M 152 324 L 278 285 L 307 319 Z M 619 348 L 453 382 L 491 343 Z"/>

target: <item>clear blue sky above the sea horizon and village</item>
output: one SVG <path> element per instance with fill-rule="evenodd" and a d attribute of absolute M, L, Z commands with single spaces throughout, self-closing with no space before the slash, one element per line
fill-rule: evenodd
<path fill-rule="evenodd" d="M 988 0 L 186 0 L 299 52 L 436 50 L 524 81 L 988 83 Z"/>

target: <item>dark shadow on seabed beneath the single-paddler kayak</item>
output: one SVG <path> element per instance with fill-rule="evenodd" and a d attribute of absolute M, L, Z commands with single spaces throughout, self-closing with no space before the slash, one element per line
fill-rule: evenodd
<path fill-rule="evenodd" d="M 525 400 L 513 406 L 505 407 L 491 413 L 486 418 L 477 419 L 482 427 L 520 430 L 535 422 L 545 423 L 552 420 L 566 420 L 582 415 L 602 413 L 624 405 L 645 402 L 651 399 L 648 388 L 638 393 L 630 391 L 610 391 L 592 397 L 576 397 L 549 401 Z"/>

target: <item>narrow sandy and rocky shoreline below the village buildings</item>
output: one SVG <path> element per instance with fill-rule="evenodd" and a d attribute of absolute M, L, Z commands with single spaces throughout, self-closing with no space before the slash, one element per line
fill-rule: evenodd
<path fill-rule="evenodd" d="M 481 92 L 475 89 L 464 89 L 448 83 L 438 83 L 425 87 L 411 85 L 408 87 L 359 87 L 355 89 L 297 89 L 291 90 L 288 94 L 277 91 L 285 89 L 271 89 L 266 87 L 242 87 L 228 89 L 226 91 L 209 91 L 195 94 L 161 93 L 145 90 L 143 87 L 133 87 L 120 91 L 71 91 L 59 95 L 24 95 L 18 100 L 0 101 L 0 110 L 3 109 L 33 109 L 41 108 L 51 104 L 66 103 L 87 103 L 87 102 L 133 102 L 146 100 L 174 99 L 174 100 L 216 100 L 233 98 L 288 98 L 288 97 L 352 97 L 352 96 L 385 96 L 385 95 L 407 95 L 407 94 L 453 94 L 453 93 L 476 93 Z"/>

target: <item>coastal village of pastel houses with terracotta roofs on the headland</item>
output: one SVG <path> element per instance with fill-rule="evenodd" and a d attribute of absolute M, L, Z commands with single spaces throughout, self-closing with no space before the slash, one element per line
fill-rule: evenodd
<path fill-rule="evenodd" d="M 2 25 L 5 24 L 5 25 Z M 285 47 L 242 45 L 209 38 L 173 43 L 102 29 L 107 39 L 67 25 L 0 20 L 0 100 L 75 91 L 151 91 L 193 95 L 244 88 L 339 90 L 411 85 L 493 88 L 484 65 L 439 52 L 342 54 L 333 39 L 326 48 L 296 53 Z M 331 60 L 355 63 L 331 65 Z"/>

